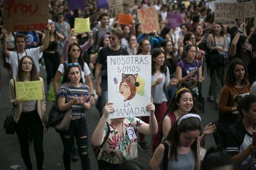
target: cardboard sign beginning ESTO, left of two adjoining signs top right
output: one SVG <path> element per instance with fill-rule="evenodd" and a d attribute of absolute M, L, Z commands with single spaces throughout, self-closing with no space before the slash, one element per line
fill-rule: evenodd
<path fill-rule="evenodd" d="M 226 26 L 234 26 L 236 22 L 234 18 L 231 18 L 229 2 L 218 2 L 215 3 L 215 22 L 222 23 Z"/>

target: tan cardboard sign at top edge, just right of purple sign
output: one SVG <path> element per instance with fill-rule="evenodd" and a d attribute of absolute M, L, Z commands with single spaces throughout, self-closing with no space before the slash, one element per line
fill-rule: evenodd
<path fill-rule="evenodd" d="M 109 0 L 108 1 L 109 17 L 117 17 L 118 14 L 124 13 L 124 7 L 122 6 L 122 0 Z"/>

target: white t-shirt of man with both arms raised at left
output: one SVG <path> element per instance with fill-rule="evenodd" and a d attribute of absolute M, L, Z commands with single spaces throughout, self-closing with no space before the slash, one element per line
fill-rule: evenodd
<path fill-rule="evenodd" d="M 12 76 L 14 78 L 16 78 L 16 76 L 17 76 L 19 60 L 22 59 L 25 55 L 32 57 L 32 59 L 34 60 L 33 62 L 36 65 L 37 72 L 38 73 L 40 72 L 38 60 L 41 58 L 42 53 L 40 53 L 39 47 L 32 48 L 32 49 L 26 49 L 25 52 L 23 52 L 22 54 L 18 53 L 17 51 L 9 51 L 9 52 L 10 52 L 10 57 L 9 58 L 6 57 L 6 62 L 11 65 Z M 19 60 L 18 60 L 17 54 L 19 54 Z"/>

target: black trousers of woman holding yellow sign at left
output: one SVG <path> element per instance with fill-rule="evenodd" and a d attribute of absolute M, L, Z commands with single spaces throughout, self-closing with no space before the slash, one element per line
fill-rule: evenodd
<path fill-rule="evenodd" d="M 37 169 L 43 168 L 43 125 L 37 111 L 21 113 L 18 123 L 14 123 L 20 142 L 20 152 L 27 169 L 32 169 L 29 154 L 28 130 L 30 129 L 36 155 Z"/>

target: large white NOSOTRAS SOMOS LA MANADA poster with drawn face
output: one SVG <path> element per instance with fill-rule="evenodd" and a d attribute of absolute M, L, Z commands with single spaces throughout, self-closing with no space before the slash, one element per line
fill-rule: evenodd
<path fill-rule="evenodd" d="M 149 116 L 151 56 L 108 56 L 108 101 L 114 103 L 109 118 Z"/>

